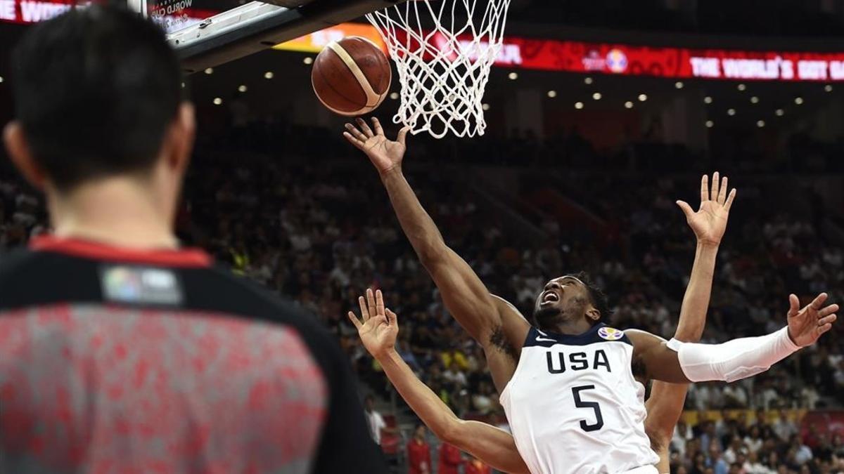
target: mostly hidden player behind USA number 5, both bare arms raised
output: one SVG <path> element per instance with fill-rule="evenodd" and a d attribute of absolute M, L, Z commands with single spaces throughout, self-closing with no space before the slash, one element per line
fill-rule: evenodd
<path fill-rule="evenodd" d="M 709 199 L 708 186 L 706 183 L 701 184 L 706 189 L 706 196 L 701 197 L 701 210 L 687 214 L 687 222 L 699 240 L 698 251 L 695 252 L 695 263 L 680 308 L 677 331 L 674 333 L 674 338 L 684 342 L 699 341 L 706 326 L 706 310 L 715 271 L 716 242 L 721 240 L 727 229 L 729 214 L 725 203 Z M 701 245 L 701 240 L 713 244 Z M 457 418 L 398 356 L 395 351 L 397 317 L 390 310 L 385 312 L 380 290 L 374 296 L 371 290 L 367 291 L 366 299 L 360 297 L 359 303 L 363 320 L 359 320 L 352 312 L 349 312 L 349 319 L 357 328 L 364 347 L 381 364 L 387 378 L 408 406 L 438 438 L 500 471 L 516 474 L 529 472 L 511 434 L 486 423 Z M 687 389 L 688 384 L 656 381 L 647 401 L 645 432 L 653 450 L 659 455 L 657 470 L 661 473 L 669 471 L 668 444 L 683 412 Z"/>

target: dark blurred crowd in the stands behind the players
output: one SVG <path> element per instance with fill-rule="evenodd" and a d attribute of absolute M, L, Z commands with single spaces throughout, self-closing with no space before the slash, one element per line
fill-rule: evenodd
<path fill-rule="evenodd" d="M 206 137 L 199 144 L 178 219 L 182 240 L 202 246 L 233 271 L 317 315 L 337 333 L 369 390 L 387 397 L 391 389 L 386 378 L 344 317 L 365 288 L 382 288 L 401 318 L 399 353 L 419 377 L 458 416 L 506 426 L 483 352 L 442 306 L 365 157 L 344 148 L 330 131 L 273 127 L 287 132 L 235 129 L 233 136 Z M 566 153 L 575 157 L 587 147 L 576 139 L 565 143 Z M 430 148 L 412 156 L 445 145 L 426 146 Z M 282 148 L 283 159 L 278 152 Z M 483 151 L 461 149 L 469 162 L 473 153 Z M 499 213 L 481 210 L 466 180 L 429 172 L 434 168 L 426 166 L 408 164 L 407 174 L 446 241 L 490 291 L 525 315 L 549 277 L 585 270 L 609 294 L 614 326 L 640 327 L 666 337 L 674 333 L 695 245 L 674 200 L 691 202 L 699 175 L 654 181 L 601 170 L 571 175 L 573 171 L 552 167 L 537 177 L 535 167 L 514 167 L 522 176 L 523 202 L 530 202 L 538 190 L 556 188 L 577 197 L 603 222 L 598 235 L 578 222 L 546 219 L 535 223 L 544 243 L 525 245 Z M 731 177 L 739 187 L 737 208 L 761 208 L 764 188 Z M 0 178 L 0 248 L 8 249 L 24 245 L 48 226 L 40 197 L 8 170 Z M 830 291 L 832 300 L 841 301 L 841 288 L 844 252 L 825 238 L 811 214 L 738 211 L 719 256 L 704 340 L 776 330 L 784 324 L 788 293 L 806 297 Z M 687 408 L 840 405 L 841 342 L 840 331 L 832 331 L 818 347 L 766 374 L 733 385 L 695 384 Z M 678 473 L 844 471 L 840 434 L 802 437 L 794 420 L 781 417 L 769 423 L 763 414 L 752 420 L 725 416 L 717 423 L 680 423 L 672 451 Z"/>

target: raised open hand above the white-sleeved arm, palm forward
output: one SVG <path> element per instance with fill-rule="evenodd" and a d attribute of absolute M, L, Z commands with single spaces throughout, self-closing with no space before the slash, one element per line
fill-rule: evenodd
<path fill-rule="evenodd" d="M 703 178 L 701 178 L 701 207 L 696 213 L 684 201 L 678 201 L 677 205 L 683 210 L 686 222 L 695 231 L 699 243 L 720 245 L 721 238 L 727 230 L 727 219 L 735 197 L 735 189 L 730 191 L 729 195 L 727 194 L 727 176 L 724 176 L 719 182 L 718 172 L 716 171 L 712 175 L 711 191 L 709 176 L 703 175 Z"/>

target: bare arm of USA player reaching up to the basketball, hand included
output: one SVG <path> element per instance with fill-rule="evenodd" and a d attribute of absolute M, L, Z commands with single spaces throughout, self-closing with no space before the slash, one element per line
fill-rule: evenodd
<path fill-rule="evenodd" d="M 398 132 L 395 142 L 384 136 L 381 122 L 376 118 L 372 119 L 372 127 L 358 119 L 357 127 L 347 123 L 346 130 L 344 137 L 375 165 L 419 261 L 440 289 L 448 311 L 484 347 L 495 385 L 502 390 L 516 369 L 512 347 L 521 347 L 527 337 L 530 329 L 527 320 L 511 307 L 495 303 L 472 267 L 446 245 L 433 219 L 404 179 L 402 160 L 407 149 L 408 128 Z"/>

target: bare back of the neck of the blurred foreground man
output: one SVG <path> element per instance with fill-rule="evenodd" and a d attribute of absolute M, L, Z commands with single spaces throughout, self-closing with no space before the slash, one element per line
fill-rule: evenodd
<path fill-rule="evenodd" d="M 48 191 L 47 207 L 57 237 L 137 249 L 176 248 L 172 212 L 156 202 L 155 194 L 131 177 L 105 178 L 61 194 Z"/>

